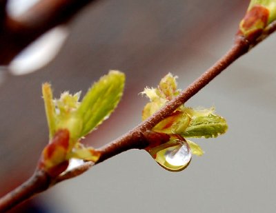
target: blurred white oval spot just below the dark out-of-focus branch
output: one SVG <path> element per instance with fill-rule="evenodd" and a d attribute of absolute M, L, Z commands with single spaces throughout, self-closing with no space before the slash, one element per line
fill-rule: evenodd
<path fill-rule="evenodd" d="M 39 70 L 55 58 L 67 37 L 68 29 L 64 26 L 46 32 L 12 60 L 10 72 L 20 75 Z"/>

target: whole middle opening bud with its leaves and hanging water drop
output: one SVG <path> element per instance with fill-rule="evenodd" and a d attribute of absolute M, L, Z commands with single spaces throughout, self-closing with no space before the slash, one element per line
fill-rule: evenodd
<path fill-rule="evenodd" d="M 146 94 L 150 102 L 144 107 L 142 119 L 148 119 L 179 92 L 176 77 L 172 74 L 161 79 L 157 88 L 146 88 L 142 94 Z M 181 105 L 151 131 L 144 132 L 149 143 L 145 150 L 163 168 L 177 172 L 186 168 L 191 154 L 204 154 L 199 145 L 186 138 L 217 137 L 226 130 L 226 120 L 215 114 L 214 108 L 193 109 Z"/>

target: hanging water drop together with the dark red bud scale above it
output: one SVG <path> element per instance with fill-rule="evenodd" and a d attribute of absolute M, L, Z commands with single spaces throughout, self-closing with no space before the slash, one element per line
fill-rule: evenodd
<path fill-rule="evenodd" d="M 161 167 L 172 172 L 179 172 L 189 165 L 192 152 L 184 138 L 173 134 L 168 141 L 161 141 L 164 133 L 150 131 L 144 135 L 148 141 L 150 140 L 150 146 L 145 150 Z"/>

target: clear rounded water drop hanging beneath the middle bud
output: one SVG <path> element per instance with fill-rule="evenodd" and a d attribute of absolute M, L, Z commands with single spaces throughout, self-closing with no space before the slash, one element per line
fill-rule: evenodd
<path fill-rule="evenodd" d="M 192 152 L 185 139 L 172 139 L 148 150 L 148 153 L 161 167 L 172 172 L 184 170 L 192 159 Z"/>

